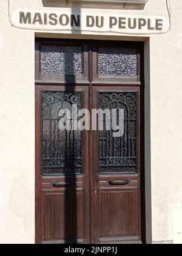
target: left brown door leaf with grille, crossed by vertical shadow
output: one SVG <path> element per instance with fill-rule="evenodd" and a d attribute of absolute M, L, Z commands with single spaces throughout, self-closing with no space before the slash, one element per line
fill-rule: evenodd
<path fill-rule="evenodd" d="M 41 243 L 89 243 L 88 132 L 60 130 L 61 109 L 88 109 L 88 88 L 36 87 Z M 70 117 L 72 120 L 72 116 Z M 39 136 L 38 136 L 39 135 Z"/>

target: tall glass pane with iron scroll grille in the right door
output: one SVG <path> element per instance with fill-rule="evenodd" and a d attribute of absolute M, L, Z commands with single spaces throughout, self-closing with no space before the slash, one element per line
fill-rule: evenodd
<path fill-rule="evenodd" d="M 99 108 L 110 109 L 110 113 L 112 109 L 124 109 L 124 134 L 121 137 L 113 137 L 112 128 L 106 131 L 104 115 L 104 130 L 99 131 L 99 172 L 136 173 L 136 93 L 101 92 Z"/>

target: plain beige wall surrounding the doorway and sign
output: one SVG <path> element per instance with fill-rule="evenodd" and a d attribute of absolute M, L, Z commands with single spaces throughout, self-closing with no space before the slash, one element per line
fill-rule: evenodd
<path fill-rule="evenodd" d="M 12 8 L 42 9 L 42 2 L 10 0 Z M 49 1 L 51 2 L 51 1 Z M 53 1 L 54 3 L 56 1 Z M 144 10 L 123 13 L 167 15 L 165 0 L 149 0 Z M 15 3 L 15 4 L 14 4 Z M 172 27 L 164 35 L 143 37 L 146 75 L 146 189 L 152 182 L 152 240 L 181 242 L 182 224 L 182 2 L 172 0 Z M 45 7 L 44 7 L 45 8 Z M 46 7 L 49 8 L 49 7 Z M 94 10 L 92 10 L 94 12 Z M 34 30 L 16 29 L 0 3 L 0 243 L 34 243 L 35 101 Z M 131 35 L 52 36 L 141 40 Z M 70 32 L 68 32 L 70 33 Z M 86 34 L 86 33 L 85 33 Z M 50 36 L 50 33 L 39 36 Z M 150 209 L 146 209 L 150 212 Z"/>

